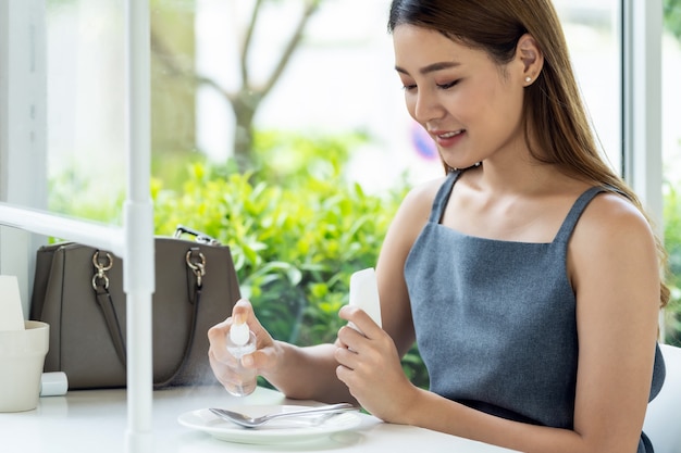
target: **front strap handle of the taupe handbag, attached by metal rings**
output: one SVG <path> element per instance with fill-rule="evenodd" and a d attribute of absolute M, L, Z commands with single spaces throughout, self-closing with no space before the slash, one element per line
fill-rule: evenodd
<path fill-rule="evenodd" d="M 102 261 L 99 250 L 92 255 L 92 264 L 97 269 L 96 274 L 92 276 L 92 288 L 95 289 L 97 303 L 99 304 L 104 316 L 107 328 L 109 330 L 109 335 L 111 336 L 116 355 L 123 366 L 126 366 L 127 353 L 125 339 L 123 338 L 121 323 L 119 322 L 119 316 L 116 315 L 115 306 L 113 304 L 111 293 L 109 292 L 109 278 L 106 275 L 106 272 L 113 265 L 113 260 L 110 253 L 106 253 L 104 257 L 107 259 L 106 262 Z M 196 320 L 201 301 L 201 289 L 203 287 L 202 277 L 206 274 L 206 257 L 198 248 L 190 248 L 185 255 L 185 261 L 187 264 L 188 280 L 194 281 L 194 297 L 188 301 L 193 305 L 191 318 L 189 319 L 189 334 L 187 335 L 187 341 L 185 342 L 185 350 L 179 365 L 177 365 L 169 378 L 161 382 L 154 382 L 153 387 L 156 389 L 170 386 L 184 370 L 194 345 L 194 338 L 196 337 Z"/>

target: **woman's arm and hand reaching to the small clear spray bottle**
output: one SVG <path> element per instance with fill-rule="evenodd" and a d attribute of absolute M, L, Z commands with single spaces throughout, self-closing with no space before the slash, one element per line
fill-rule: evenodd
<path fill-rule="evenodd" d="M 413 240 L 428 219 L 435 191 L 442 180 L 412 190 L 401 203 L 386 235 L 376 265 L 382 324 L 388 341 L 398 344 L 403 356 L 413 343 L 413 326 L 403 268 Z M 364 315 L 362 313 L 362 315 Z M 225 337 L 232 319 L 243 316 L 256 334 L 258 350 L 243 358 L 243 365 L 255 367 L 270 383 L 293 399 L 323 402 L 352 401 L 347 386 L 338 380 L 334 344 L 300 348 L 272 339 L 264 330 L 248 301 L 239 301 L 233 316 L 209 331 L 210 362 L 216 378 L 226 385 L 238 377 L 233 373 L 234 358 L 226 352 Z M 367 319 L 369 317 L 367 316 Z M 383 332 L 373 322 L 371 325 Z M 367 320 L 362 320 L 362 326 Z M 401 369 L 400 369 L 401 373 Z"/>

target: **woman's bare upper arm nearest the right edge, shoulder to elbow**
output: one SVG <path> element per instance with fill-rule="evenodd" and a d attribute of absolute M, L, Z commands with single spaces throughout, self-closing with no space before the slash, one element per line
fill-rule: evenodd
<path fill-rule="evenodd" d="M 580 339 L 574 429 L 594 450 L 627 451 L 651 391 L 660 270 L 651 227 L 631 203 L 602 194 L 592 204 L 569 256 Z"/>

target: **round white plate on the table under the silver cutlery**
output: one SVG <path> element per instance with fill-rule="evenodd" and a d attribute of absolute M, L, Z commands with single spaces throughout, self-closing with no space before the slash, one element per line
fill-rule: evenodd
<path fill-rule="evenodd" d="M 228 407 L 231 411 L 258 417 L 260 415 L 278 412 L 299 411 L 309 406 L 295 405 L 256 405 L 244 407 Z M 208 432 L 215 439 L 238 442 L 270 444 L 280 442 L 300 442 L 329 436 L 357 427 L 361 418 L 356 412 L 338 414 L 312 414 L 283 417 L 261 426 L 260 428 L 244 428 L 224 420 L 208 408 L 191 411 L 177 417 L 177 421 L 187 428 Z"/>

